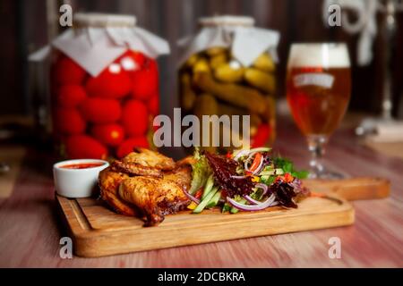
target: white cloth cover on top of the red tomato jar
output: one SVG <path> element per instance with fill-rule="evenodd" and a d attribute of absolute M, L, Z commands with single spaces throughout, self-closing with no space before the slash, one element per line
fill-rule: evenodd
<path fill-rule="evenodd" d="M 74 24 L 55 38 L 51 46 L 71 57 L 96 77 L 128 49 L 151 58 L 169 54 L 169 44 L 145 29 L 135 26 L 136 19 L 128 15 L 77 13 Z M 43 60 L 50 46 L 30 55 L 30 61 Z"/>

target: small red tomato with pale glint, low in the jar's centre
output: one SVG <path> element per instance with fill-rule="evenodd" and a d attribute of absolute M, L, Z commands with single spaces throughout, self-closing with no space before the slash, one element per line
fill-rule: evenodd
<path fill-rule="evenodd" d="M 116 147 L 124 139 L 124 129 L 119 124 L 114 123 L 94 125 L 91 134 L 101 143 L 111 147 Z"/>

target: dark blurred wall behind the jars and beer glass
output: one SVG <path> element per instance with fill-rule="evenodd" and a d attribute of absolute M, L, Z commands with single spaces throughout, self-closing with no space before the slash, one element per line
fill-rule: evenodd
<path fill-rule="evenodd" d="M 382 95 L 382 42 L 373 45 L 375 57 L 366 67 L 356 66 L 357 36 L 347 35 L 339 27 L 326 28 L 322 21 L 322 0 L 72 0 L 73 12 L 126 13 L 137 16 L 138 25 L 149 29 L 171 45 L 171 55 L 159 58 L 162 113 L 170 114 L 176 101 L 176 41 L 197 31 L 197 19 L 214 14 L 250 15 L 256 26 L 278 29 L 279 91 L 284 97 L 284 74 L 288 49 L 293 42 L 346 41 L 353 65 L 353 90 L 350 110 L 376 114 Z M 0 4 L 0 114 L 31 114 L 30 68 L 27 55 L 47 44 L 57 33 L 63 1 L 2 0 Z M 354 15 L 351 15 L 354 18 Z M 352 18 L 352 19 L 353 19 Z M 382 21 L 382 15 L 379 15 Z M 399 15 L 399 31 L 393 54 L 394 114 L 403 114 L 400 98 L 403 85 L 403 13 Z M 400 109 L 400 110 L 399 110 Z"/>

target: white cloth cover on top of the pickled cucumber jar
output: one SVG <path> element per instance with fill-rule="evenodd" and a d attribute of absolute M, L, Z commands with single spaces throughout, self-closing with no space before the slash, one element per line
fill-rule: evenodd
<path fill-rule="evenodd" d="M 250 66 L 264 52 L 269 52 L 273 60 L 278 61 L 279 32 L 253 27 L 253 18 L 215 16 L 201 18 L 199 22 L 199 33 L 178 42 L 179 46 L 186 46 L 180 64 L 191 55 L 214 46 L 230 48 L 231 55 L 245 67 Z"/>

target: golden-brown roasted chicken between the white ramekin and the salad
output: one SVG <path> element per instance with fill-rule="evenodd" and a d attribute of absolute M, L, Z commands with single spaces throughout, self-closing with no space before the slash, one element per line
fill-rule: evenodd
<path fill-rule="evenodd" d="M 192 181 L 192 161 L 178 163 L 157 152 L 137 148 L 99 173 L 101 198 L 117 213 L 142 216 L 156 225 L 165 214 L 189 205 L 184 191 Z"/>

